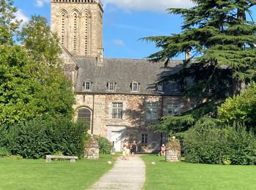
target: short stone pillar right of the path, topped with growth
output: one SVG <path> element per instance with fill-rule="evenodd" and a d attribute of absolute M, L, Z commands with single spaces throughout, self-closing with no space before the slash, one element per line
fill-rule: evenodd
<path fill-rule="evenodd" d="M 181 161 L 181 143 L 175 137 L 166 145 L 165 160 L 170 162 Z"/>

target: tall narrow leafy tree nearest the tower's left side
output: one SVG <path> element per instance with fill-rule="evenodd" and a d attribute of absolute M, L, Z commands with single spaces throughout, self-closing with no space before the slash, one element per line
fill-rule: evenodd
<path fill-rule="evenodd" d="M 72 84 L 62 72 L 59 38 L 50 31 L 47 20 L 41 16 L 32 16 L 22 28 L 20 41 L 29 56 L 37 62 L 34 73 L 42 89 L 35 96 L 41 114 L 45 117 L 64 114 L 72 118 L 72 104 L 75 102 Z"/>

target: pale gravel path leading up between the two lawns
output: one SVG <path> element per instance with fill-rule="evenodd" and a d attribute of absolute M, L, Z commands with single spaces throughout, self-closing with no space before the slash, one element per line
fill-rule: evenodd
<path fill-rule="evenodd" d="M 130 156 L 129 160 L 118 159 L 108 173 L 102 176 L 89 190 L 98 189 L 143 189 L 145 182 L 145 164 L 140 156 Z"/>

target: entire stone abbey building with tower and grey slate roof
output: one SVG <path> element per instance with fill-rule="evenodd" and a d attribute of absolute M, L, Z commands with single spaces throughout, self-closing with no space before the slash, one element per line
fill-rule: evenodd
<path fill-rule="evenodd" d="M 147 126 L 195 106 L 181 96 L 177 83 L 157 85 L 183 61 L 164 66 L 145 59 L 104 58 L 102 15 L 99 0 L 51 1 L 51 29 L 59 34 L 64 73 L 74 84 L 76 117 L 88 121 L 92 134 L 114 141 L 118 151 L 125 139 L 136 140 L 142 152 L 158 151 L 162 135 Z"/>

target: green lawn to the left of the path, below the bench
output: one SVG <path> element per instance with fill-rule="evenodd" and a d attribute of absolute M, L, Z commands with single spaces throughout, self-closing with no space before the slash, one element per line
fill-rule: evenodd
<path fill-rule="evenodd" d="M 100 156 L 98 161 L 69 160 L 52 161 L 45 159 L 0 159 L 1 190 L 39 190 L 39 189 L 86 189 L 113 167 L 107 164 L 110 155 Z"/>

